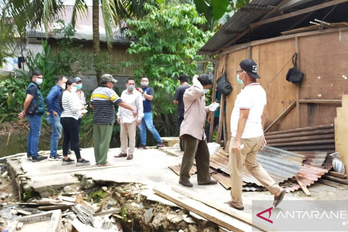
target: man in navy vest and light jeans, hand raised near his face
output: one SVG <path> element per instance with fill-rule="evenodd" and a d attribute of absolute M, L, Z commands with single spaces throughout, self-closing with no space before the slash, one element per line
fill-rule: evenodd
<path fill-rule="evenodd" d="M 159 136 L 158 131 L 155 126 L 153 126 L 152 122 L 152 100 L 155 91 L 153 88 L 149 87 L 149 79 L 147 77 L 141 78 L 140 84 L 141 88 L 137 88 L 137 90 L 140 91 L 143 97 L 144 117 L 139 125 L 141 137 L 141 146 L 139 149 L 146 149 L 146 128 L 148 128 L 153 137 L 155 137 L 157 141 L 156 146 L 163 147 L 161 136 Z"/>

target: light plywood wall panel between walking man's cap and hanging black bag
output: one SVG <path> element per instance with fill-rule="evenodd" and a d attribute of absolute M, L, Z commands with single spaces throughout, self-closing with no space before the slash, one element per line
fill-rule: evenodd
<path fill-rule="evenodd" d="M 294 39 L 259 45 L 260 84 L 267 94 L 267 128 L 296 99 L 296 86 L 286 81 L 287 71 L 293 67 L 292 56 L 296 51 Z M 257 56 L 253 52 L 253 56 Z M 270 131 L 296 128 L 295 110 L 287 113 Z"/>

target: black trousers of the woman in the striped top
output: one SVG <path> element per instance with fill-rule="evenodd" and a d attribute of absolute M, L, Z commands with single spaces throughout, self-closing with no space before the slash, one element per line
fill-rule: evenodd
<path fill-rule="evenodd" d="M 63 117 L 61 118 L 61 124 L 63 126 L 63 155 L 68 156 L 69 143 L 71 144 L 71 150 L 75 152 L 76 159 L 81 158 L 80 146 L 79 146 L 79 125 L 76 119 Z"/>

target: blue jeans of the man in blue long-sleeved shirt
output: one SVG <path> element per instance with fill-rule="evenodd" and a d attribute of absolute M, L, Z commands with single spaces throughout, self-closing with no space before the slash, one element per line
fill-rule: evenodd
<path fill-rule="evenodd" d="M 58 141 L 62 137 L 63 127 L 61 125 L 61 117 L 59 115 L 56 115 L 53 117 L 52 114 L 47 114 L 46 119 L 52 128 L 49 149 L 50 149 L 50 157 L 54 157 L 55 155 L 57 155 Z"/>

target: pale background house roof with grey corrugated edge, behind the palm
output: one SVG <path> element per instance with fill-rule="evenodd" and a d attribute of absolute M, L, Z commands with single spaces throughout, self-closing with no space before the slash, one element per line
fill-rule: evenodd
<path fill-rule="evenodd" d="M 57 15 L 57 19 L 62 19 L 66 24 L 71 22 L 73 13 L 73 6 L 64 6 L 60 13 Z M 49 32 L 47 33 L 48 38 L 52 39 L 62 39 L 63 34 L 53 33 L 53 29 L 56 28 L 57 24 L 53 23 L 49 26 Z M 93 28 L 92 28 L 92 7 L 88 6 L 88 11 L 86 15 L 81 16 L 80 14 L 76 17 L 75 34 L 72 39 L 75 40 L 93 40 Z M 105 26 L 103 21 L 102 13 L 99 14 L 99 36 L 101 42 L 106 42 Z M 29 38 L 46 38 L 46 32 L 43 28 L 38 28 L 36 30 L 30 30 L 27 32 L 27 37 Z M 122 33 L 120 28 L 114 30 L 113 43 L 124 43 L 129 44 L 130 40 L 126 38 L 125 34 Z"/>

